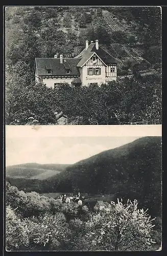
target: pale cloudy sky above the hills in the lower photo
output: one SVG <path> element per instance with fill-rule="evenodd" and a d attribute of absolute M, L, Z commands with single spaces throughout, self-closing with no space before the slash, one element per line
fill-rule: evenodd
<path fill-rule="evenodd" d="M 136 136 L 7 136 L 6 166 L 21 163 L 73 164 L 138 138 Z"/>

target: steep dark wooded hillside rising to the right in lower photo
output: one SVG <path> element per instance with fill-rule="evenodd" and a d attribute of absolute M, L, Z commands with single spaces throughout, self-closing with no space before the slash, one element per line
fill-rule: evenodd
<path fill-rule="evenodd" d="M 161 138 L 145 137 L 71 165 L 50 180 L 56 178 L 57 189 L 78 187 L 81 191 L 113 194 L 121 191 L 125 182 L 138 183 L 160 168 Z M 149 178 L 151 181 L 152 176 Z"/>

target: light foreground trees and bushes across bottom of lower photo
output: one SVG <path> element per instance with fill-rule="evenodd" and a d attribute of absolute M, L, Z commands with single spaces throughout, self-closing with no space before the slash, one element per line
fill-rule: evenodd
<path fill-rule="evenodd" d="M 8 182 L 6 191 L 7 250 L 152 250 L 161 240 L 155 218 L 138 209 L 136 200 L 111 202 L 100 212 L 83 206 L 79 212 L 76 203 L 24 193 Z"/>

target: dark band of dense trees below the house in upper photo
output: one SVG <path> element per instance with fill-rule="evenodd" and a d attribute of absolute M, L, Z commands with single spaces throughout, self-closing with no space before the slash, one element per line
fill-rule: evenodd
<path fill-rule="evenodd" d="M 161 79 L 156 75 L 125 77 L 101 87 L 61 84 L 53 89 L 27 82 L 25 76 L 10 76 L 6 81 L 7 124 L 57 124 L 59 113 L 68 118 L 68 124 L 161 122 Z"/>

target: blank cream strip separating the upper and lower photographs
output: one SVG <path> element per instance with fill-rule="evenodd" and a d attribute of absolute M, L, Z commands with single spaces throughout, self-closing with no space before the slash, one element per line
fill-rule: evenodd
<path fill-rule="evenodd" d="M 6 125 L 6 137 L 162 136 L 162 125 Z"/>

